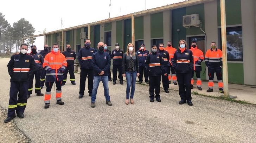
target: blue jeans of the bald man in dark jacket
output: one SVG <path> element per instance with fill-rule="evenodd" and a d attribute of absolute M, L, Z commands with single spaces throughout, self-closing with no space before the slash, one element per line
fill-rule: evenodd
<path fill-rule="evenodd" d="M 94 76 L 93 89 L 91 93 L 91 102 L 95 102 L 96 100 L 97 90 L 98 90 L 100 81 L 102 81 L 103 83 L 104 96 L 106 98 L 106 101 L 110 101 L 109 90 L 108 90 L 108 76 Z"/>

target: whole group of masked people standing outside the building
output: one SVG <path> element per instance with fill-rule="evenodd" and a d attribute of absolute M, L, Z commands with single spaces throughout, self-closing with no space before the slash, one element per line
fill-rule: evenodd
<path fill-rule="evenodd" d="M 222 68 L 222 51 L 216 48 L 216 42 L 211 43 L 211 49 L 207 50 L 205 58 L 203 52 L 197 48 L 197 43 L 192 42 L 191 48 L 185 40 L 179 41 L 179 48 L 173 48 L 172 42 L 153 45 L 151 52 L 146 50 L 145 44 L 141 44 L 140 49 L 135 52 L 133 43 L 127 45 L 126 53 L 120 49 L 119 43 L 116 43 L 115 49 L 111 52 L 107 45 L 99 42 L 97 50 L 91 47 L 90 39 L 85 40 L 85 45 L 78 52 L 78 61 L 80 64 L 80 85 L 79 96 L 83 98 L 85 91 L 85 81 L 88 79 L 88 93 L 91 96 L 91 107 L 96 107 L 96 95 L 100 81 L 103 83 L 104 96 L 106 104 L 112 105 L 109 96 L 108 82 L 111 81 L 110 64 L 113 59 L 113 84 L 116 84 L 117 71 L 119 71 L 119 81 L 123 84 L 123 76 L 126 77 L 126 104 L 134 104 L 134 92 L 136 77 L 139 77 L 139 83 L 143 82 L 143 73 L 145 82 L 149 84 L 150 102 L 161 102 L 160 99 L 160 82 L 166 93 L 169 93 L 169 84 L 171 83 L 171 74 L 173 84 L 179 84 L 179 95 L 181 101 L 179 104 L 191 102 L 191 89 L 193 88 L 194 72 L 197 76 L 197 88 L 201 88 L 200 71 L 201 62 L 205 60 L 208 67 L 209 89 L 213 91 L 213 77 L 216 73 L 218 79 L 219 91 L 223 93 L 223 82 L 221 75 Z M 24 117 L 24 110 L 27 105 L 27 98 L 30 97 L 33 90 L 33 79 L 35 76 L 36 85 L 35 93 L 37 96 L 43 96 L 41 88 L 46 86 L 44 96 L 45 106 L 50 107 L 51 89 L 56 84 L 56 103 L 63 105 L 62 86 L 67 81 L 67 74 L 70 73 L 70 82 L 75 83 L 74 61 L 76 52 L 71 50 L 70 45 L 66 45 L 66 50 L 60 52 L 59 45 L 53 44 L 52 50 L 44 46 L 44 50 L 37 53 L 37 47 L 31 46 L 31 53 L 27 53 L 28 45 L 20 46 L 20 53 L 11 57 L 7 67 L 11 76 L 10 99 L 8 105 L 8 115 L 4 122 L 9 122 L 16 117 L 15 111 L 19 118 Z M 148 80 L 149 79 L 149 80 Z M 19 97 L 17 99 L 17 96 Z"/>

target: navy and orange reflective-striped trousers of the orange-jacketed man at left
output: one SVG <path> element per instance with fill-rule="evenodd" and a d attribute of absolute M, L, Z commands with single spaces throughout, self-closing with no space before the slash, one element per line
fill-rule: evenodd
<path fill-rule="evenodd" d="M 44 96 L 44 103 L 50 103 L 51 100 L 51 89 L 54 82 L 45 82 L 46 92 Z M 56 100 L 61 100 L 61 81 L 55 81 L 56 84 Z"/>

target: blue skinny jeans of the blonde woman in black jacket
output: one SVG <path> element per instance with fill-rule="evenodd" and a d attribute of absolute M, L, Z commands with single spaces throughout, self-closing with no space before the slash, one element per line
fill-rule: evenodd
<path fill-rule="evenodd" d="M 129 99 L 131 85 L 132 85 L 132 90 L 131 90 L 130 98 L 133 99 L 133 95 L 134 95 L 134 91 L 135 91 L 135 82 L 136 82 L 137 71 L 133 71 L 133 72 L 127 72 L 126 71 L 125 76 L 126 76 L 126 82 L 127 82 L 126 99 Z"/>

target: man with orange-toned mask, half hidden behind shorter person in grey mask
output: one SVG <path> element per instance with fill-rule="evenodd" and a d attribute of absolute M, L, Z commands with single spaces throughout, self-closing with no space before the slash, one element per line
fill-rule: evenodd
<path fill-rule="evenodd" d="M 161 54 L 162 55 L 162 58 L 164 60 L 164 70 L 165 70 L 165 73 L 167 74 L 162 74 L 162 83 L 163 83 L 163 87 L 164 87 L 164 90 L 165 90 L 165 93 L 169 93 L 169 81 L 168 81 L 168 74 L 170 73 L 170 62 L 169 62 L 169 53 L 164 50 L 164 43 L 159 43 L 159 50 L 157 51 L 157 53 Z"/>

